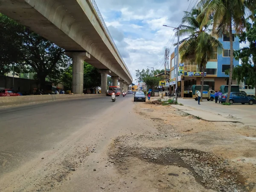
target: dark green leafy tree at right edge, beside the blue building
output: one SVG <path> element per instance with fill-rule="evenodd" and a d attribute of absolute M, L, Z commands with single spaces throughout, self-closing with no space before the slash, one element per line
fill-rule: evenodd
<path fill-rule="evenodd" d="M 256 10 L 253 20 L 256 18 Z M 256 87 L 256 25 L 255 22 L 247 20 L 246 30 L 239 35 L 240 43 L 248 43 L 248 47 L 243 47 L 234 52 L 236 60 L 241 59 L 241 66 L 233 70 L 233 77 L 239 82 L 246 80 L 247 85 Z M 252 64 L 254 64 L 252 66 Z M 255 91 L 256 93 L 256 91 Z M 255 94 L 256 95 L 256 94 Z"/>

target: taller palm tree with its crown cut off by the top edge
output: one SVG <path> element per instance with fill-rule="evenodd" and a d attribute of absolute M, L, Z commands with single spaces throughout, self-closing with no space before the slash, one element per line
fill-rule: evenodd
<path fill-rule="evenodd" d="M 227 34 L 230 38 L 230 73 L 227 100 L 229 102 L 232 76 L 233 76 L 233 32 L 241 32 L 245 25 L 245 16 L 256 7 L 256 0 L 201 0 L 198 6 L 204 7 L 204 14 L 199 15 L 203 18 L 200 29 L 208 23 L 209 18 L 213 19 L 212 31 L 218 37 Z"/>

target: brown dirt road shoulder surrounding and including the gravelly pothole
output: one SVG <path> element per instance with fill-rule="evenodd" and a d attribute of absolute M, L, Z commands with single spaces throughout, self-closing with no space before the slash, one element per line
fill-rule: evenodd
<path fill-rule="evenodd" d="M 118 137 L 109 152 L 126 181 L 136 177 L 135 191 L 256 191 L 255 127 L 171 106 L 140 103 L 135 111 L 158 132 Z"/>

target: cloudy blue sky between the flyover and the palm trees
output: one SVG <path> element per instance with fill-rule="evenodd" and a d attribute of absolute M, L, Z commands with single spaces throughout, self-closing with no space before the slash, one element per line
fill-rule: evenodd
<path fill-rule="evenodd" d="M 163 69 L 165 49 L 193 0 L 95 0 L 135 83 L 137 69 Z M 170 59 L 169 59 L 170 62 Z"/>

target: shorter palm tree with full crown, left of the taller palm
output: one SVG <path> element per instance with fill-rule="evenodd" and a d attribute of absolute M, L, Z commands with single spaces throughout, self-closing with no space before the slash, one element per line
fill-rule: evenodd
<path fill-rule="evenodd" d="M 202 26 L 204 17 L 198 17 L 204 15 L 200 7 L 194 8 L 191 12 L 185 12 L 182 18 L 182 24 L 180 27 L 180 36 L 188 36 L 180 41 L 180 58 L 181 63 L 185 61 L 196 61 L 198 67 L 203 72 L 201 94 L 204 87 L 204 71 L 206 64 L 211 58 L 215 49 L 222 48 L 222 44 L 212 35 L 210 35 L 212 20 L 208 20 L 206 24 Z M 201 97 L 202 99 L 202 97 Z"/>

